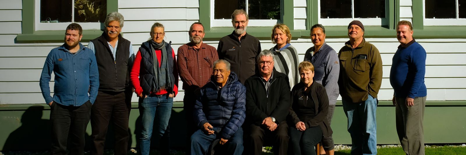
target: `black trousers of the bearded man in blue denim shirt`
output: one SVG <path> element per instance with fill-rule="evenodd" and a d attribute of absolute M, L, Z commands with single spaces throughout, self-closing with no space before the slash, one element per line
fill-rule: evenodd
<path fill-rule="evenodd" d="M 50 155 L 67 155 L 68 138 L 71 142 L 70 155 L 84 155 L 84 136 L 91 107 L 92 104 L 89 101 L 79 107 L 63 106 L 55 101 L 52 103 L 50 107 L 52 124 Z"/>

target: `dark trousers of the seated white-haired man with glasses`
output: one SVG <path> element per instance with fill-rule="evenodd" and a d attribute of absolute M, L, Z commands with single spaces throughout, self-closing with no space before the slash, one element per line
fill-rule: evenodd
<path fill-rule="evenodd" d="M 282 121 L 274 131 L 263 126 L 251 124 L 248 126 L 244 142 L 245 150 L 243 155 L 261 155 L 262 146 L 266 142 L 267 146 L 272 145 L 275 155 L 287 155 L 288 151 L 288 124 Z"/>

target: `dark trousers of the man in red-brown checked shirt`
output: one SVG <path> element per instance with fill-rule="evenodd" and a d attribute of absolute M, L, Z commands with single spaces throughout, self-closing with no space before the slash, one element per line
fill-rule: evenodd
<path fill-rule="evenodd" d="M 196 95 L 194 93 L 188 93 L 185 91 L 185 97 L 183 98 L 183 110 L 185 111 L 186 120 L 186 155 L 191 154 L 191 135 L 194 134 L 199 128 L 194 122 L 194 105 L 196 104 Z"/>

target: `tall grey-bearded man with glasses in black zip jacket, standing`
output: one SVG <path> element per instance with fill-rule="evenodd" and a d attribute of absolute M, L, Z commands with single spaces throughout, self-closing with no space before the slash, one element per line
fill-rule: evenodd
<path fill-rule="evenodd" d="M 235 10 L 231 18 L 234 31 L 220 39 L 217 52 L 219 59 L 231 63 L 231 71 L 238 74 L 240 82 L 244 84 L 256 72 L 256 58 L 261 51 L 260 42 L 246 33 L 249 17 L 243 9 Z"/>

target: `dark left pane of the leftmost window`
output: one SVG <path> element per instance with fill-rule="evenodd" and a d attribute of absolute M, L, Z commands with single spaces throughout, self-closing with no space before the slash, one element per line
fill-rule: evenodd
<path fill-rule="evenodd" d="M 71 22 L 71 0 L 41 0 L 41 21 Z"/>

